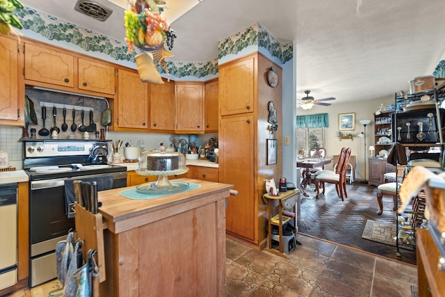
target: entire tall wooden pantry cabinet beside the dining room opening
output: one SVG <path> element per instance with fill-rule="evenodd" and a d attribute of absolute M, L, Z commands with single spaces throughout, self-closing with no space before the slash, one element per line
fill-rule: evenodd
<path fill-rule="evenodd" d="M 277 68 L 280 83 L 267 82 L 270 67 Z M 234 184 L 237 196 L 227 198 L 226 231 L 251 246 L 266 243 L 266 179 L 282 175 L 281 133 L 277 138 L 277 163 L 266 164 L 268 102 L 277 109 L 282 123 L 282 69 L 259 53 L 237 58 L 219 66 L 219 176 L 220 182 Z"/>

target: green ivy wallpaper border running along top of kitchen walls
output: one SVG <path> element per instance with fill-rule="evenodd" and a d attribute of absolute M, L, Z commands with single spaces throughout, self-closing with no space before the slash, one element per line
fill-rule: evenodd
<path fill-rule="evenodd" d="M 38 33 L 47 40 L 69 42 L 83 51 L 96 51 L 105 54 L 114 61 L 128 61 L 136 68 L 134 57 L 140 53 L 140 50 L 135 48 L 130 54 L 127 43 L 124 41 L 110 38 L 28 6 L 16 10 L 15 14 L 19 17 L 24 29 Z M 264 47 L 282 64 L 290 61 L 293 57 L 292 42 L 282 45 L 257 23 L 218 42 L 218 58 L 207 62 L 168 61 L 168 72 L 175 78 L 211 79 L 218 77 L 218 59 L 227 56 L 227 54 L 237 54 L 250 46 Z M 156 64 L 156 67 L 159 74 L 164 74 L 164 77 L 168 76 L 160 65 Z"/>

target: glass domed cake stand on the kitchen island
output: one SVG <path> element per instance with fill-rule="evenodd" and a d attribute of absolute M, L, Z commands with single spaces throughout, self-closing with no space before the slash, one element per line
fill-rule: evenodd
<path fill-rule="evenodd" d="M 136 186 L 142 193 L 156 193 L 165 191 L 181 191 L 188 186 L 186 182 L 168 181 L 168 175 L 182 175 L 188 171 L 186 158 L 180 152 L 143 152 L 141 154 L 138 175 L 157 175 L 157 182 L 150 182 Z"/>

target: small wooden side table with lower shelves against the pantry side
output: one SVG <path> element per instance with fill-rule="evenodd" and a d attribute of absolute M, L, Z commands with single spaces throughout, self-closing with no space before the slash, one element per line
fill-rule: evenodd
<path fill-rule="evenodd" d="M 289 259 L 289 255 L 283 252 L 283 244 L 282 244 L 282 236 L 283 236 L 283 205 L 287 200 L 295 198 L 296 195 L 300 194 L 300 190 L 291 190 L 284 193 L 280 193 L 277 196 L 271 196 L 269 194 L 264 194 L 264 199 L 268 200 L 268 248 L 265 248 L 268 252 L 272 252 L 276 255 Z M 278 200 L 278 223 L 272 222 L 273 213 L 272 213 L 272 202 L 273 200 Z M 293 205 L 293 213 L 296 214 L 295 218 L 293 218 L 293 227 L 297 227 L 297 211 L 296 205 Z M 278 235 L 279 235 L 279 250 L 275 250 L 272 248 L 272 225 L 278 226 Z"/>

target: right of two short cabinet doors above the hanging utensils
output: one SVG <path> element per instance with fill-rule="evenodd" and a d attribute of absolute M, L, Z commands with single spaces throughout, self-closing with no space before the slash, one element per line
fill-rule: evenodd
<path fill-rule="evenodd" d="M 114 67 L 79 58 L 79 89 L 114 95 Z"/>

